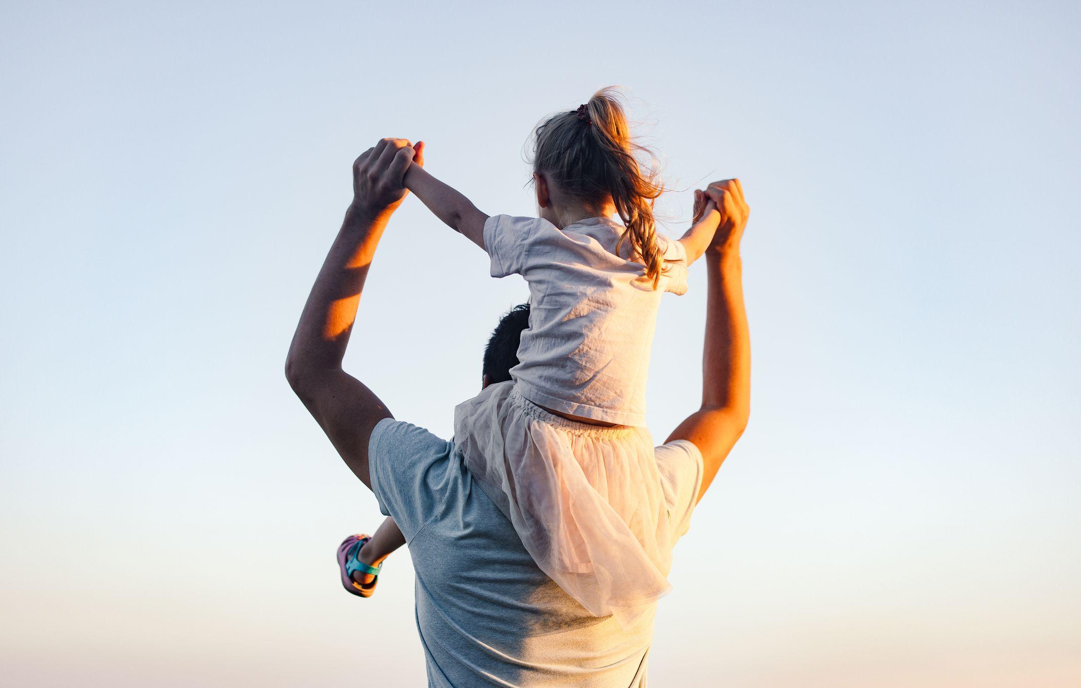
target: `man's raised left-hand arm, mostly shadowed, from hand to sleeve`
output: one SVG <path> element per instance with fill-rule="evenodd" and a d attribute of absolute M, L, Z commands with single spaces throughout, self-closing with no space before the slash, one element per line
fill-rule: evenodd
<path fill-rule="evenodd" d="M 422 163 L 419 153 L 415 158 Z M 290 386 L 369 488 L 368 441 L 375 424 L 391 415 L 371 389 L 342 370 L 342 358 L 375 247 L 405 198 L 402 178 L 413 160 L 410 142 L 384 138 L 353 162 L 352 203 L 308 294 L 285 358 Z"/>

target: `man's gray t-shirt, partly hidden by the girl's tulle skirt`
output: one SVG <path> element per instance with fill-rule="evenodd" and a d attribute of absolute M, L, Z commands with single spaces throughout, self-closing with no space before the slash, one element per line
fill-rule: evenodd
<path fill-rule="evenodd" d="M 702 453 L 676 440 L 656 458 L 675 541 L 690 527 Z M 586 611 L 537 568 L 453 441 L 384 419 L 369 465 L 413 557 L 429 686 L 645 685 L 655 607 L 628 629 Z"/>

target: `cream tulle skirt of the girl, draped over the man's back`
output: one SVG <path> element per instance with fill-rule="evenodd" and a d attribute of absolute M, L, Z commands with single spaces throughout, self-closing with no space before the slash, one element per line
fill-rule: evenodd
<path fill-rule="evenodd" d="M 501 382 L 454 409 L 454 442 L 540 570 L 590 613 L 627 625 L 671 588 L 648 428 L 570 421 Z"/>

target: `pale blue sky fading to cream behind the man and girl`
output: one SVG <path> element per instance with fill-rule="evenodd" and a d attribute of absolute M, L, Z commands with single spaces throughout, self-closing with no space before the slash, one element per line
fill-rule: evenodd
<path fill-rule="evenodd" d="M 669 233 L 710 180 L 752 208 L 750 424 L 652 680 L 1077 686 L 1079 35 L 1069 2 L 2 3 L 4 683 L 423 685 L 408 553 L 341 588 L 382 516 L 290 338 L 357 155 L 423 138 L 531 214 L 531 128 L 622 84 Z M 691 273 L 660 438 L 700 389 Z M 446 437 L 525 297 L 410 198 L 346 368 Z"/>

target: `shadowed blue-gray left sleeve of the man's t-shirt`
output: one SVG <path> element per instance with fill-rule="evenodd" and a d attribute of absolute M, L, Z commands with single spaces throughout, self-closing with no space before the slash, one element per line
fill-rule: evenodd
<path fill-rule="evenodd" d="M 372 429 L 368 466 L 372 491 L 392 516 L 405 542 L 437 514 L 436 495 L 446 479 L 453 442 L 412 423 L 385 418 Z"/>

